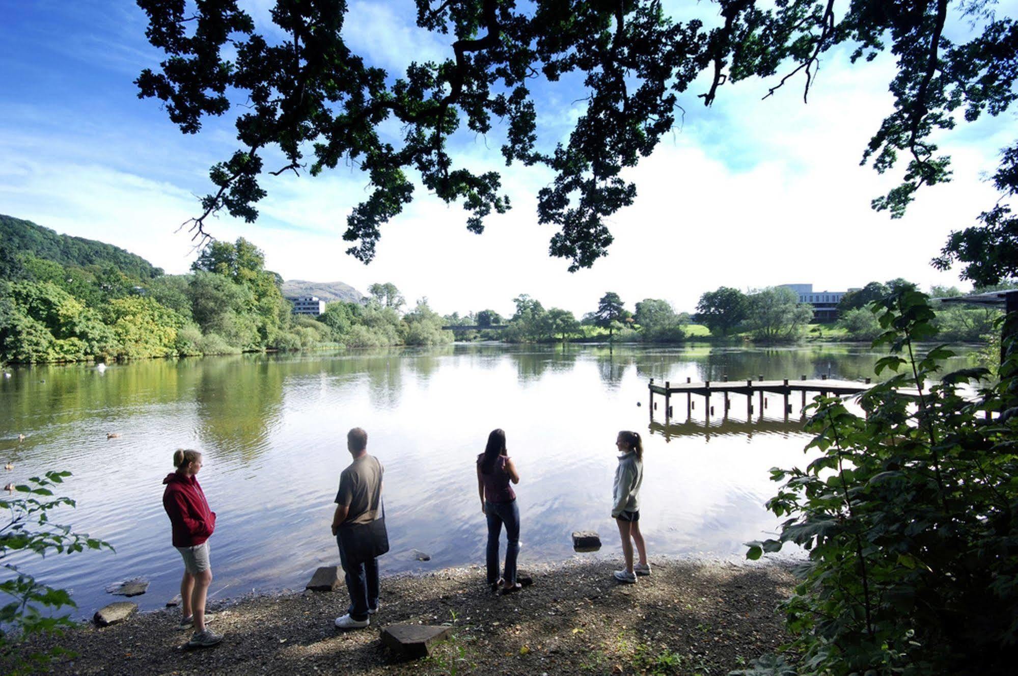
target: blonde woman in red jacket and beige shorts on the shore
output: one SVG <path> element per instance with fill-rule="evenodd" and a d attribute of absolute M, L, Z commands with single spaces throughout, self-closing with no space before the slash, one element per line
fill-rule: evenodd
<path fill-rule="evenodd" d="M 187 641 L 190 647 L 208 647 L 223 640 L 222 634 L 205 626 L 205 598 L 212 583 L 212 563 L 209 558 L 209 537 L 216 529 L 216 512 L 197 483 L 195 474 L 202 468 L 202 454 L 180 449 L 173 454 L 173 466 L 163 484 L 163 507 L 173 526 L 173 546 L 184 560 L 184 577 L 180 580 L 181 628 L 194 627 Z"/>

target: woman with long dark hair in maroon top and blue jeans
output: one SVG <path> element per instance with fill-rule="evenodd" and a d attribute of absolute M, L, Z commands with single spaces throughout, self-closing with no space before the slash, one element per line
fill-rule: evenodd
<path fill-rule="evenodd" d="M 516 555 L 519 553 L 519 508 L 509 482 L 519 484 L 516 466 L 506 450 L 506 433 L 494 430 L 488 446 L 477 456 L 477 493 L 480 511 L 488 517 L 488 583 L 501 586 L 503 594 L 519 588 L 516 581 Z M 506 526 L 506 567 L 499 579 L 499 536 Z"/>

